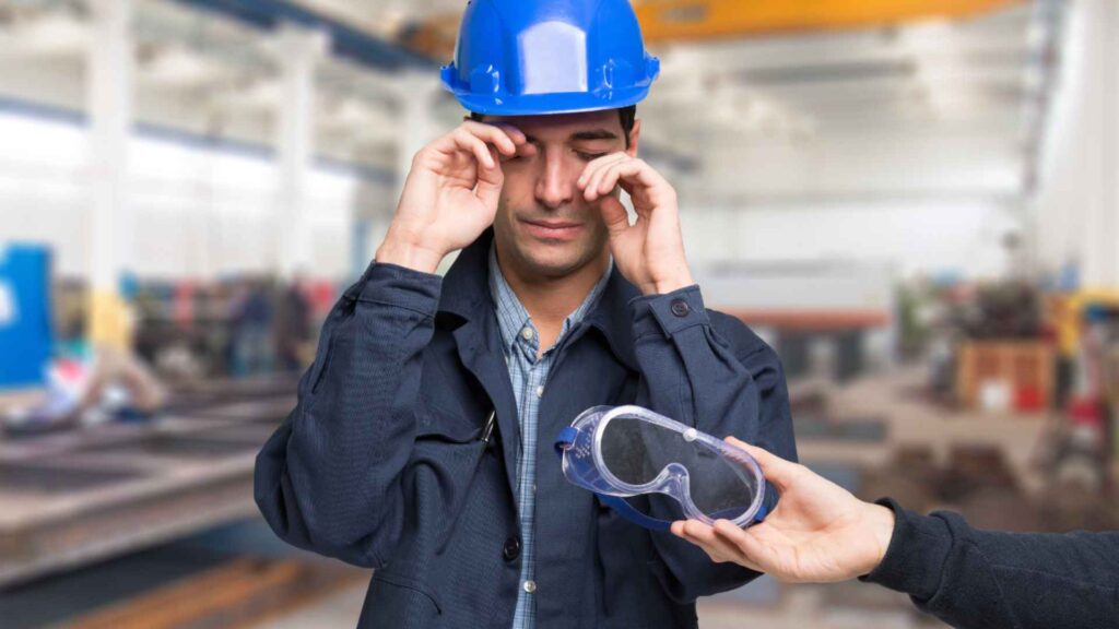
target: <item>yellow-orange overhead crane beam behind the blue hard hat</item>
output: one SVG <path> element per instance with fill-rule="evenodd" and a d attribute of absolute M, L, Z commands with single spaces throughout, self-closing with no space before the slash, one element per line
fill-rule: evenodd
<path fill-rule="evenodd" d="M 526 0 L 532 1 L 532 0 Z M 706 41 L 815 30 L 875 28 L 924 19 L 968 19 L 1025 0 L 634 0 L 650 44 Z M 440 62 L 454 54 L 459 15 L 406 26 L 398 39 Z"/>

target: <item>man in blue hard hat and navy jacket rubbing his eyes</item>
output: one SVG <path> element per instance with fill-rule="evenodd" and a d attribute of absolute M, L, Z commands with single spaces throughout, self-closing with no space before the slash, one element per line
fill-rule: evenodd
<path fill-rule="evenodd" d="M 637 403 L 796 457 L 777 357 L 704 308 L 676 194 L 637 158 L 656 69 L 626 0 L 468 7 L 444 81 L 481 121 L 416 154 L 257 460 L 281 537 L 376 569 L 361 626 L 695 627 L 697 597 L 756 576 L 622 519 L 552 451 Z"/>

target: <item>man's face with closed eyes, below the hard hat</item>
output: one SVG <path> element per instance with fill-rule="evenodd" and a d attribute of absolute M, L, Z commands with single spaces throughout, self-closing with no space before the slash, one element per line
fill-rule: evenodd
<path fill-rule="evenodd" d="M 527 276 L 563 278 L 598 260 L 606 227 L 599 204 L 586 203 L 576 182 L 595 158 L 623 150 L 636 154 L 640 126 L 627 149 L 617 111 L 486 122 L 517 126 L 536 149 L 502 163 L 505 187 L 493 220 L 502 263 Z"/>

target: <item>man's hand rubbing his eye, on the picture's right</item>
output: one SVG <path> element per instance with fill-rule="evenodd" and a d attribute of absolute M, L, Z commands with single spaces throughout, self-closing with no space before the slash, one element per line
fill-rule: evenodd
<path fill-rule="evenodd" d="M 614 195 L 620 186 L 633 199 L 637 222 Z M 626 152 L 586 165 L 579 189 L 589 203 L 601 199 L 618 270 L 642 294 L 664 294 L 695 282 L 684 256 L 676 190 L 648 163 Z"/>

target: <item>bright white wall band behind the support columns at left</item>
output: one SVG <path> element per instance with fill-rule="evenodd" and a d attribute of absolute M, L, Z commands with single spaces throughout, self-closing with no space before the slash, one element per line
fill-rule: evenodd
<path fill-rule="evenodd" d="M 0 243 L 49 244 L 57 271 L 86 276 L 84 129 L 0 114 Z M 135 273 L 208 280 L 275 267 L 274 166 L 265 157 L 139 138 L 131 147 Z M 313 276 L 350 274 L 355 175 L 318 169 L 311 182 Z"/>

